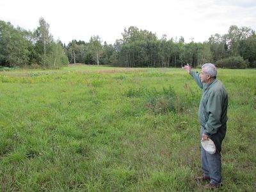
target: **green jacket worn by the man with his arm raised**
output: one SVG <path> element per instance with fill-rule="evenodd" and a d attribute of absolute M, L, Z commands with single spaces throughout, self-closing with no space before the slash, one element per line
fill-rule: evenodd
<path fill-rule="evenodd" d="M 218 137 L 222 141 L 225 137 L 226 130 L 219 130 L 225 127 L 228 120 L 228 95 L 220 80 L 214 79 L 209 84 L 202 83 L 198 72 L 191 71 L 189 73 L 196 81 L 198 86 L 203 90 L 198 109 L 198 117 L 200 124 L 205 127 L 204 134 Z M 217 136 L 217 135 L 216 135 Z"/>

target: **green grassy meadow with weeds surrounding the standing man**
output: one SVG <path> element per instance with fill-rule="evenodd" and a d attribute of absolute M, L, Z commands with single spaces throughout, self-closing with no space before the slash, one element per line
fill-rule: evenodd
<path fill-rule="evenodd" d="M 229 96 L 220 191 L 255 191 L 256 70 L 218 78 Z M 201 94 L 180 68 L 2 71 L 0 191 L 204 191 L 193 180 Z"/>

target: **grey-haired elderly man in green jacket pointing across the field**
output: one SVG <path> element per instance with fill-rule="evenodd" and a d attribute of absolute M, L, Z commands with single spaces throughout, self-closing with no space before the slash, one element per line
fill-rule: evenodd
<path fill-rule="evenodd" d="M 203 90 L 200 100 L 198 117 L 201 124 L 200 137 L 202 140 L 211 138 L 216 145 L 216 152 L 209 154 L 201 146 L 203 175 L 196 180 L 210 180 L 205 189 L 216 189 L 221 186 L 221 143 L 227 130 L 228 96 L 223 84 L 216 79 L 217 70 L 212 63 L 205 63 L 199 74 L 191 70 L 189 65 L 184 69 L 195 79 L 198 86 Z"/>

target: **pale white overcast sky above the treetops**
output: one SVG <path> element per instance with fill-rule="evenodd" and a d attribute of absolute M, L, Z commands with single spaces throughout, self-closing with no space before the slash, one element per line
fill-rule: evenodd
<path fill-rule="evenodd" d="M 129 26 L 204 42 L 231 25 L 256 30 L 256 0 L 0 0 L 0 20 L 15 27 L 33 31 L 40 17 L 65 44 L 93 35 L 114 44 Z"/>

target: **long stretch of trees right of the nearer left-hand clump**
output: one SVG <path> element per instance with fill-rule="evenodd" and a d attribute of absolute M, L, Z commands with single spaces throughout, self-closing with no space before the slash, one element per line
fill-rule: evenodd
<path fill-rule="evenodd" d="M 168 39 L 163 35 L 159 39 L 156 33 L 130 26 L 114 45 L 102 45 L 99 36 L 92 36 L 89 42 L 72 40 L 65 52 L 70 63 L 122 67 L 181 67 L 190 63 L 196 67 L 211 62 L 224 68 L 255 68 L 256 35 L 251 28 L 230 26 L 227 34 L 185 43 L 182 36 Z M 230 58 L 235 58 L 235 63 L 230 63 Z"/>

